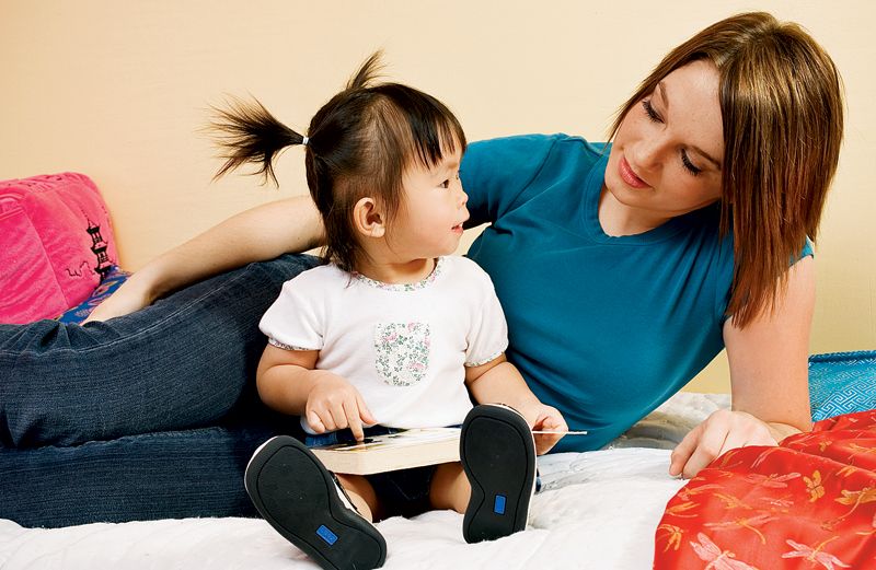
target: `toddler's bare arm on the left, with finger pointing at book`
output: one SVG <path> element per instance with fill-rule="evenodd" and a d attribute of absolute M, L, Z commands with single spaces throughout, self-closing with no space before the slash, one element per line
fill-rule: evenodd
<path fill-rule="evenodd" d="M 284 350 L 268 345 L 255 374 L 258 396 L 268 407 L 304 416 L 316 433 L 349 428 L 365 439 L 362 422 L 377 420 L 353 384 L 325 370 L 314 370 L 319 350 Z"/>

